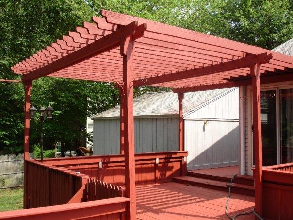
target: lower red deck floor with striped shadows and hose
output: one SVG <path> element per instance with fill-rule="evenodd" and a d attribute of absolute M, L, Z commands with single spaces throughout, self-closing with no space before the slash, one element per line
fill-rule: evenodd
<path fill-rule="evenodd" d="M 228 193 L 213 189 L 169 182 L 136 186 L 138 220 L 228 219 L 225 203 Z M 254 197 L 232 194 L 229 214 L 251 210 Z M 252 214 L 239 220 L 254 219 Z"/>

